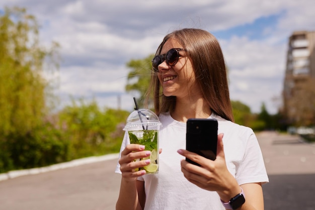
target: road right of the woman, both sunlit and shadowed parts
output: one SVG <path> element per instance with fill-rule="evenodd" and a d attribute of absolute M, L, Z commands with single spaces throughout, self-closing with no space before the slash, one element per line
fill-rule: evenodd
<path fill-rule="evenodd" d="M 265 209 L 315 209 L 315 144 L 297 136 L 257 135 L 269 183 L 263 185 Z"/>

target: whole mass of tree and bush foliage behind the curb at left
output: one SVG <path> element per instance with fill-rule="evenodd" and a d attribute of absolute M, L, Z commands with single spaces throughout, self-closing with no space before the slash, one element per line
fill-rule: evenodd
<path fill-rule="evenodd" d="M 96 102 L 49 109 L 43 66 L 58 67 L 56 43 L 39 43 L 36 19 L 25 9 L 0 16 L 0 173 L 118 152 L 129 113 Z"/>

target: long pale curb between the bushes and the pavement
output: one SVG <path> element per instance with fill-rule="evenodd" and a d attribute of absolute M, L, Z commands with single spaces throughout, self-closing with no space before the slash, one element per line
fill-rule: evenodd
<path fill-rule="evenodd" d="M 59 170 L 59 169 L 89 164 L 89 163 L 96 163 L 96 162 L 101 162 L 101 161 L 106 161 L 106 160 L 112 160 L 112 159 L 118 158 L 118 156 L 119 156 L 119 153 L 114 153 L 114 154 L 109 154 L 109 155 L 86 157 L 86 158 L 71 160 L 68 162 L 57 163 L 57 164 L 53 164 L 50 166 L 44 166 L 44 167 L 39 167 L 39 168 L 9 171 L 7 173 L 0 173 L 0 181 L 13 179 L 13 178 L 16 178 L 19 176 L 34 175 L 34 174 L 45 173 L 45 172 L 49 172 L 49 171 L 55 171 L 55 170 Z"/>

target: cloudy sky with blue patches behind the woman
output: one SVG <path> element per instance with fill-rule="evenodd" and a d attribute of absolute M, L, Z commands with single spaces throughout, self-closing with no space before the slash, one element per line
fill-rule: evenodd
<path fill-rule="evenodd" d="M 313 0 L 2 0 L 0 12 L 14 6 L 37 18 L 44 46 L 61 46 L 59 69 L 47 73 L 55 81 L 59 107 L 84 98 L 132 111 L 138 94 L 125 91 L 131 70 L 126 63 L 155 53 L 173 30 L 200 28 L 221 45 L 230 98 L 254 113 L 265 103 L 275 114 L 288 38 L 294 31 L 315 31 Z"/>

